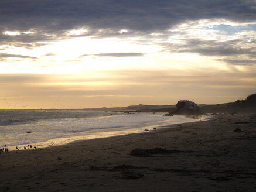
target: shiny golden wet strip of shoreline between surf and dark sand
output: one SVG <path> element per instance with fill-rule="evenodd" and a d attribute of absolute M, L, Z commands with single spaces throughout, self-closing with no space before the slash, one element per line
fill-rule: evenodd
<path fill-rule="evenodd" d="M 70 134 L 68 136 L 62 136 L 58 138 L 53 138 L 45 141 L 40 142 L 32 142 L 32 143 L 24 143 L 19 145 L 11 145 L 7 146 L 10 151 L 17 151 L 16 147 L 18 147 L 18 151 L 25 150 L 34 150 L 34 146 L 37 149 L 47 148 L 50 146 L 59 146 L 59 145 L 66 145 L 68 143 L 77 142 L 78 140 L 91 140 L 97 138 L 108 138 L 112 136 L 118 135 L 128 135 L 132 133 L 142 133 L 145 129 L 149 131 L 155 131 L 153 128 L 162 129 L 164 126 L 175 125 L 175 124 L 186 124 L 187 122 L 194 122 L 194 121 L 206 121 L 207 118 L 210 118 L 210 115 L 175 115 L 180 116 L 181 118 L 175 119 L 170 117 L 169 119 L 163 121 L 156 121 L 156 122 L 149 122 L 141 125 L 135 126 L 124 126 L 124 127 L 117 127 L 117 128 L 100 128 L 100 129 L 91 129 L 89 131 L 84 132 L 76 132 L 74 134 Z M 32 145 L 32 149 L 28 147 L 28 145 Z"/>

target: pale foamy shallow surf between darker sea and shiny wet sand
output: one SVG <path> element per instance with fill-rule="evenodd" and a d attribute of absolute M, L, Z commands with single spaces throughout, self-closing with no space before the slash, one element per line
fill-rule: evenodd
<path fill-rule="evenodd" d="M 85 132 L 91 129 L 118 128 L 122 126 L 135 126 L 148 122 L 164 120 L 162 116 L 141 114 L 118 114 L 94 116 L 89 118 L 57 118 L 36 119 L 22 124 L 9 124 L 1 126 L 0 146 L 35 143 L 72 135 L 72 133 Z M 9 121 L 1 121 L 7 124 Z"/>

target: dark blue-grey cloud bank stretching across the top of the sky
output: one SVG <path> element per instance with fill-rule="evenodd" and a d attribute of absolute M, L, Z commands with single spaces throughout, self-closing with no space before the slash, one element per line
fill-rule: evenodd
<path fill-rule="evenodd" d="M 244 0 L 9 0 L 0 1 L 0 42 L 36 43 L 66 37 L 74 28 L 87 28 L 87 35 L 109 36 L 128 29 L 151 33 L 186 20 L 225 18 L 244 22 L 255 20 L 255 1 Z M 19 36 L 2 32 L 32 30 Z M 105 33 L 105 34 L 104 34 Z"/>

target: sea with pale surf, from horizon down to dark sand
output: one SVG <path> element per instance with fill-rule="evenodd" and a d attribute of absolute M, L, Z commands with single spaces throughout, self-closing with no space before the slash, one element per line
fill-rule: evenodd
<path fill-rule="evenodd" d="M 76 140 L 142 132 L 171 124 L 200 121 L 185 115 L 88 111 L 83 109 L 0 109 L 0 147 L 43 148 Z"/>

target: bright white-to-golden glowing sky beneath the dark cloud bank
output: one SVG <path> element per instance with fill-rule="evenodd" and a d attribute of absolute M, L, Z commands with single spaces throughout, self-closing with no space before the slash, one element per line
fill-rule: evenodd
<path fill-rule="evenodd" d="M 0 46 L 4 90 L 0 104 L 4 108 L 86 108 L 103 107 L 106 102 L 112 107 L 116 100 L 120 104 L 174 104 L 186 97 L 203 102 L 207 97 L 221 99 L 218 93 L 231 89 L 247 95 L 255 88 L 253 56 L 251 63 L 244 64 L 250 56 L 235 51 L 237 47 L 253 50 L 255 32 L 229 32 L 222 25 L 229 30 L 229 26 L 242 24 L 198 20 L 180 23 L 166 33 L 134 36 L 128 36 L 133 33 L 128 29 L 102 29 L 87 36 L 90 30 L 85 27 L 67 30 L 59 39 L 37 42 L 40 46 Z M 33 37 L 32 33 L 36 31 L 3 34 L 16 39 Z M 118 35 L 99 37 L 108 33 Z M 232 49 L 227 57 L 219 49 L 228 40 Z M 233 45 L 232 40 L 240 40 L 240 44 Z M 248 77 L 242 78 L 240 73 Z M 59 95 L 65 102 L 56 102 Z"/>

